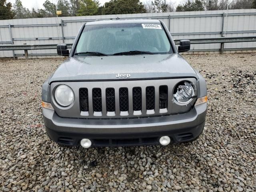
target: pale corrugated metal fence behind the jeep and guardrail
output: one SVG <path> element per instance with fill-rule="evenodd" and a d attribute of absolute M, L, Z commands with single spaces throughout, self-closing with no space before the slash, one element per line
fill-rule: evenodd
<path fill-rule="evenodd" d="M 256 36 L 256 9 L 248 9 L 0 20 L 0 44 L 72 43 L 84 22 L 138 18 L 162 20 L 174 39 Z M 251 52 L 256 50 L 256 42 L 226 43 L 224 48 L 226 52 L 241 52 L 241 48 Z M 191 51 L 196 53 L 219 49 L 220 44 L 191 45 Z M 24 51 L 0 51 L 0 57 L 13 54 L 21 57 Z M 29 50 L 28 54 L 56 57 L 56 50 Z"/>

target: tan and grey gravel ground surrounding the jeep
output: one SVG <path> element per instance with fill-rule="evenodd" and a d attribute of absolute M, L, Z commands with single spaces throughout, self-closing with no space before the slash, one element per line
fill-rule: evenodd
<path fill-rule="evenodd" d="M 44 129 L 41 86 L 63 59 L 0 61 L 0 191 L 256 191 L 256 54 L 185 58 L 208 84 L 198 140 L 88 150 Z"/>

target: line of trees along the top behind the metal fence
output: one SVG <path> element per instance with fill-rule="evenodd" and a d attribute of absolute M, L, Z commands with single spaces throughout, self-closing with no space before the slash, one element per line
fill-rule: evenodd
<path fill-rule="evenodd" d="M 22 5 L 21 0 L 14 4 L 0 0 L 0 20 L 21 18 L 56 17 L 56 11 L 61 10 L 60 16 L 90 16 L 110 14 L 154 13 L 174 11 L 203 11 L 225 9 L 256 8 L 256 0 L 186 0 L 175 6 L 171 1 L 154 0 L 110 0 L 100 5 L 98 0 L 58 0 L 57 4 L 46 0 L 44 8 L 32 8 Z"/>

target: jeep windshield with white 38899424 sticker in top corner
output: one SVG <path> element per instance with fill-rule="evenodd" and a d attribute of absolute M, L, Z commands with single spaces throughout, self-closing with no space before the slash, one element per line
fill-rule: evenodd
<path fill-rule="evenodd" d="M 85 26 L 74 54 L 96 52 L 98 55 L 170 54 L 173 50 L 160 23 L 125 23 Z"/>

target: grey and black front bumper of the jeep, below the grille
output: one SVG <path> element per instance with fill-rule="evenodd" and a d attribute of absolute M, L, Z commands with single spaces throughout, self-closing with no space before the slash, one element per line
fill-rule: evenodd
<path fill-rule="evenodd" d="M 172 141 L 191 141 L 202 133 L 207 103 L 194 106 L 184 114 L 132 119 L 62 118 L 54 110 L 43 108 L 49 137 L 59 144 L 80 145 L 82 138 L 92 146 L 134 146 L 158 144 L 160 136 Z"/>

